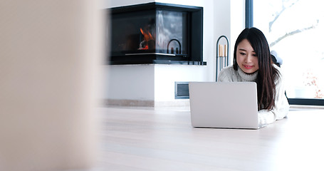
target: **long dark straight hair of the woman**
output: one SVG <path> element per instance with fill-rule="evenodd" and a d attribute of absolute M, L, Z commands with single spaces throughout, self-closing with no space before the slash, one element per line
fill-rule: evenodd
<path fill-rule="evenodd" d="M 275 106 L 276 85 L 275 81 L 279 75 L 271 61 L 271 53 L 266 41 L 266 36 L 258 28 L 245 28 L 236 39 L 234 46 L 234 70 L 237 71 L 238 64 L 236 61 L 237 46 L 244 39 L 248 40 L 258 56 L 258 76 L 256 84 L 258 88 L 258 109 L 271 110 Z"/>

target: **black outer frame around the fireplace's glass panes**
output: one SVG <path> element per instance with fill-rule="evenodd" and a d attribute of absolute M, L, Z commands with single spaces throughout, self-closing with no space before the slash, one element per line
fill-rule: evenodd
<path fill-rule="evenodd" d="M 200 6 L 184 6 L 177 4 L 164 3 L 147 3 L 137 4 L 132 6 L 120 6 L 107 9 L 108 16 L 113 19 L 114 14 L 125 14 L 134 11 L 148 11 L 148 10 L 170 10 L 170 11 L 184 11 L 187 12 L 187 56 L 167 56 L 159 53 L 151 54 L 134 54 L 132 56 L 116 56 L 108 53 L 107 63 L 110 65 L 124 65 L 124 64 L 184 64 L 184 65 L 206 65 L 203 61 L 203 8 Z M 109 24 L 107 25 L 109 26 Z M 111 29 L 108 28 L 111 31 Z M 111 33 L 113 34 L 113 33 Z M 109 37 L 109 36 L 108 36 Z M 109 41 L 109 40 L 107 40 Z M 112 42 L 107 43 L 110 45 Z M 110 49 L 109 47 L 107 47 Z"/>

